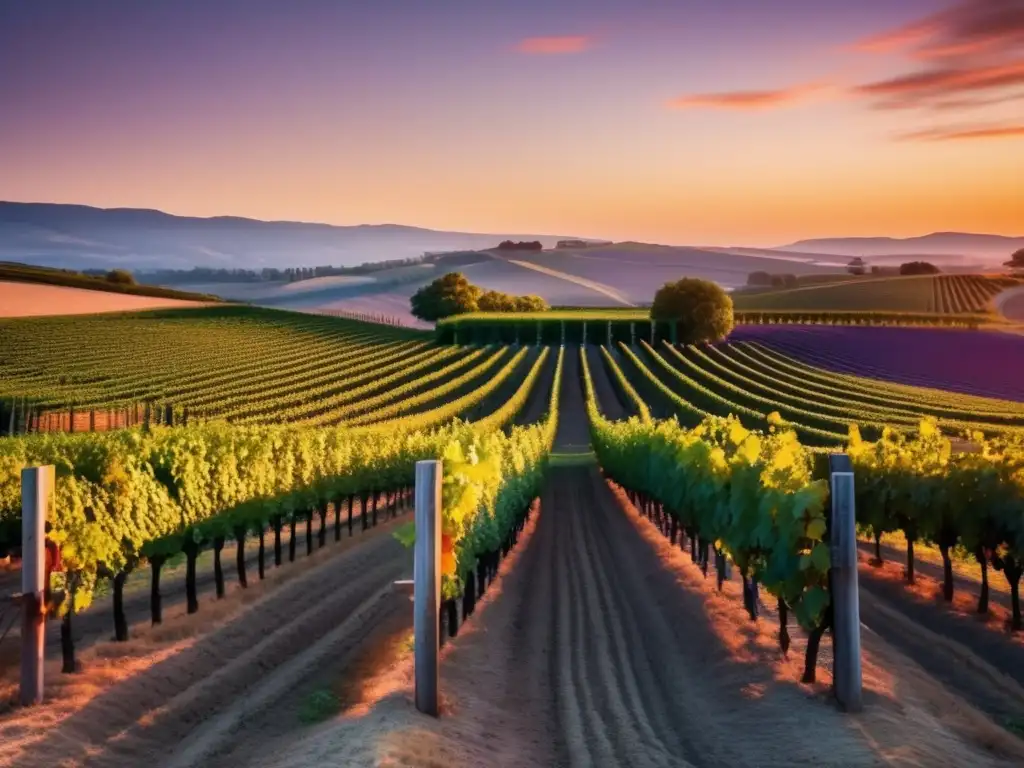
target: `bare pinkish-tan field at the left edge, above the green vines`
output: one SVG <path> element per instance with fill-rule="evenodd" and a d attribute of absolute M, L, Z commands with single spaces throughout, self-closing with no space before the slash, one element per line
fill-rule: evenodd
<path fill-rule="evenodd" d="M 0 317 L 130 312 L 139 309 L 187 306 L 201 306 L 201 304 L 179 299 L 90 291 L 84 288 L 0 281 Z"/>

